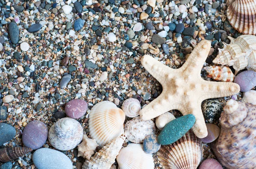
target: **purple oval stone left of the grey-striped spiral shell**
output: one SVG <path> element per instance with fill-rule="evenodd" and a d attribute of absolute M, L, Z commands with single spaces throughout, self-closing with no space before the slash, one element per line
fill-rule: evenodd
<path fill-rule="evenodd" d="M 23 130 L 22 142 L 24 146 L 39 149 L 47 140 L 47 126 L 38 120 L 29 122 Z"/>

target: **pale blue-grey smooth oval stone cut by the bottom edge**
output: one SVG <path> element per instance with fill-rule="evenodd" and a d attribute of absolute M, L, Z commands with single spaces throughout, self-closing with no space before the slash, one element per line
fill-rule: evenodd
<path fill-rule="evenodd" d="M 38 149 L 34 152 L 32 160 L 38 169 L 73 169 L 70 159 L 54 149 Z"/>

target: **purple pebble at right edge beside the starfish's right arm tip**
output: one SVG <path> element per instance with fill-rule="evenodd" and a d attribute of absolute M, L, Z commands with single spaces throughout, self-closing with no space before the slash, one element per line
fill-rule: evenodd
<path fill-rule="evenodd" d="M 241 92 L 247 92 L 256 86 L 256 72 L 253 70 L 246 70 L 239 73 L 234 80 L 240 86 Z"/>

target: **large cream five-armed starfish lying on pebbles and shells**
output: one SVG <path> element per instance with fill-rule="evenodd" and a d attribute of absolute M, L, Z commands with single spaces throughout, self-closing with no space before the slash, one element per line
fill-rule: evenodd
<path fill-rule="evenodd" d="M 192 130 L 198 138 L 207 136 L 201 102 L 210 98 L 232 96 L 240 91 L 236 83 L 210 82 L 201 78 L 202 65 L 210 48 L 209 41 L 201 41 L 179 69 L 169 68 L 149 55 L 143 56 L 143 67 L 163 87 L 160 96 L 140 110 L 143 120 L 150 120 L 170 110 L 179 110 L 183 115 L 195 115 Z"/>

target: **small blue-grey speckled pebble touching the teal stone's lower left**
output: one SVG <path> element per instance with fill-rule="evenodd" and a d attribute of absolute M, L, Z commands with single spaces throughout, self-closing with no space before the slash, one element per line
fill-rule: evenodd
<path fill-rule="evenodd" d="M 146 136 L 143 141 L 143 150 L 145 153 L 152 154 L 157 152 L 161 147 L 161 144 L 157 142 L 157 135 L 151 134 Z"/>

